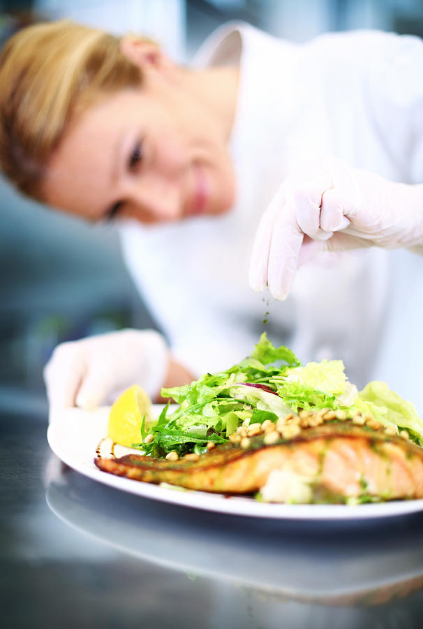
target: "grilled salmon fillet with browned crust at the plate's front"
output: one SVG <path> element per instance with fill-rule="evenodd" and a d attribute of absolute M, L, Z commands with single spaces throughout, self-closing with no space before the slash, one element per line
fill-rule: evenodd
<path fill-rule="evenodd" d="M 346 498 L 423 498 L 423 448 L 410 440 L 350 421 L 306 428 L 295 438 L 266 444 L 262 435 L 248 447 L 222 444 L 198 460 L 179 461 L 129 454 L 96 458 L 98 468 L 149 483 L 218 493 L 251 494 L 275 470 L 307 479 L 309 502 L 343 503 Z"/>

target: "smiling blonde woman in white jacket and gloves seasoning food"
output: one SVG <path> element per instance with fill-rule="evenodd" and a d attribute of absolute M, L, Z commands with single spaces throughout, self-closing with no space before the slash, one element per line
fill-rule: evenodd
<path fill-rule="evenodd" d="M 156 397 L 226 368 L 267 310 L 273 340 L 369 379 L 387 249 L 423 243 L 422 76 L 419 38 L 376 31 L 296 45 L 229 24 L 190 68 L 151 41 L 67 21 L 11 38 L 3 173 L 54 208 L 119 222 L 168 339 L 126 330 L 59 345 L 52 409 L 95 407 L 134 382 Z M 267 285 L 279 301 L 253 292 Z"/>

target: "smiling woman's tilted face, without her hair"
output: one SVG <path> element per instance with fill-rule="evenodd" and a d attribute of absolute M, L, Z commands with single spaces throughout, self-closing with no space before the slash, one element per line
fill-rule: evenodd
<path fill-rule="evenodd" d="M 90 221 L 219 215 L 235 196 L 227 141 L 201 101 L 168 75 L 105 97 L 52 154 L 47 203 Z"/>

